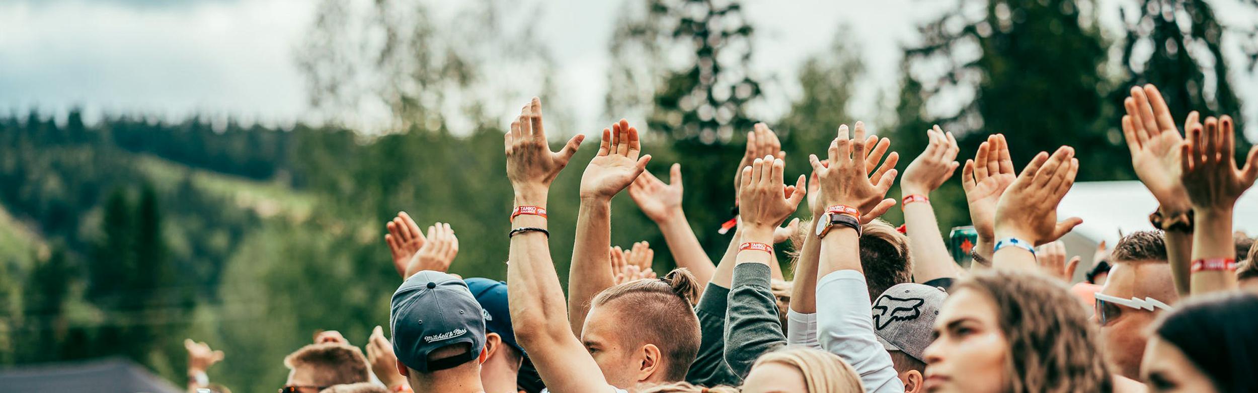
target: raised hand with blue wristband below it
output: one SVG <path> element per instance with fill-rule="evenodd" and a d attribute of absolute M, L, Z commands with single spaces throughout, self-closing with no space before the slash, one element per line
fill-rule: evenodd
<path fill-rule="evenodd" d="M 1057 204 L 1074 185 L 1078 171 L 1079 160 L 1071 146 L 1057 149 L 1052 156 L 1043 151 L 1035 155 L 996 203 L 996 237 L 1039 246 L 1062 238 L 1083 223 L 1076 217 L 1057 222 Z"/>

